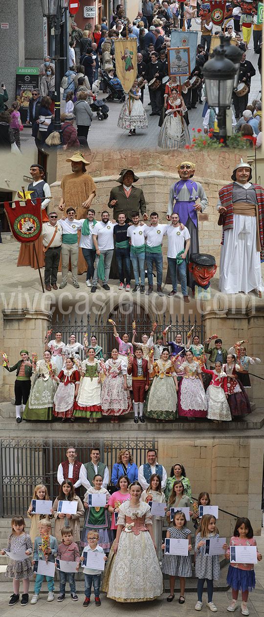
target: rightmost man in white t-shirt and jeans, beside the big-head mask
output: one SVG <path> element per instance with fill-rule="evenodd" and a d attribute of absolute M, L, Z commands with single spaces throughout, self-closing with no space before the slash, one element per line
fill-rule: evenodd
<path fill-rule="evenodd" d="M 168 252 L 167 260 L 172 278 L 172 291 L 168 296 L 175 296 L 177 294 L 177 269 L 180 274 L 180 282 L 182 286 L 183 300 L 188 304 L 190 302 L 187 294 L 187 277 L 186 277 L 186 262 L 185 258 L 190 249 L 190 233 L 185 227 L 183 230 L 180 228 L 180 220 L 178 214 L 175 212 L 171 215 L 171 225 L 167 226 L 168 236 Z"/>

